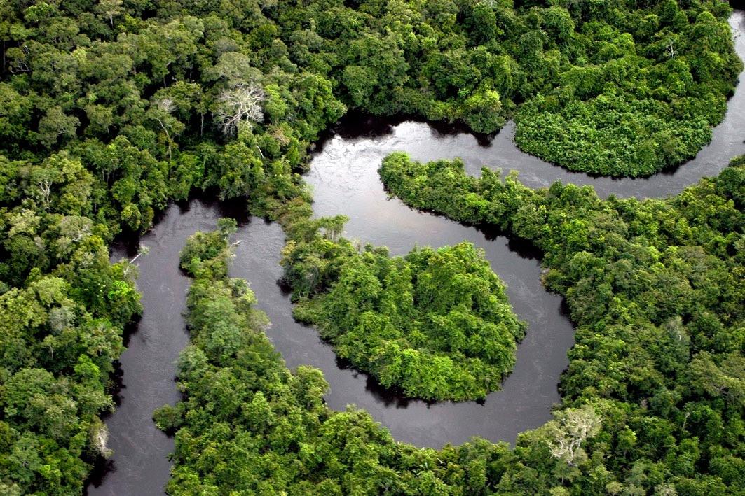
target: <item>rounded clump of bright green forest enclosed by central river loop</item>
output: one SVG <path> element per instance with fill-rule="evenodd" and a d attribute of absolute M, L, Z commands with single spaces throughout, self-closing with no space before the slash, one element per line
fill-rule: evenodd
<path fill-rule="evenodd" d="M 291 242 L 282 263 L 299 300 L 295 318 L 315 324 L 337 355 L 384 387 L 429 400 L 481 399 L 515 364 L 525 323 L 469 243 L 390 258 L 384 248 L 359 252 L 319 235 Z"/>

